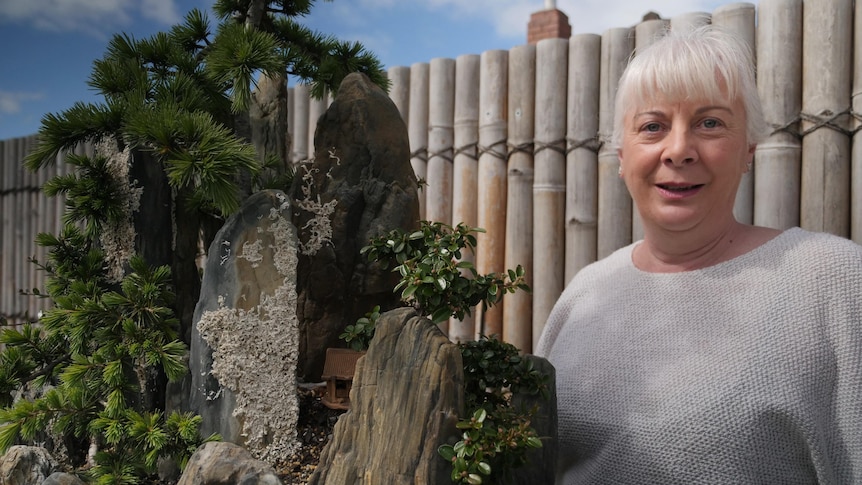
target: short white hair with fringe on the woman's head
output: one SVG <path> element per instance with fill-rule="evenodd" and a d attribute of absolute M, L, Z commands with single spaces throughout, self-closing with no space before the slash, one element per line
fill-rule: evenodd
<path fill-rule="evenodd" d="M 712 25 L 681 32 L 668 30 L 633 53 L 623 72 L 612 142 L 620 146 L 626 114 L 645 103 L 739 98 L 745 109 L 748 143 L 757 144 L 766 138 L 768 128 L 754 73 L 751 48 L 737 35 Z"/>

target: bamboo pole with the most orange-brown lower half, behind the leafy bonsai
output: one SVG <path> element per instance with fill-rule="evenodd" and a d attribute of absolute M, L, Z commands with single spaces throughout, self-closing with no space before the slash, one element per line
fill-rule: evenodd
<path fill-rule="evenodd" d="M 479 274 L 504 270 L 506 240 L 506 95 L 509 53 L 482 53 L 479 74 L 479 184 L 477 219 L 485 230 L 477 234 L 476 269 Z M 498 306 L 476 312 L 476 333 L 502 338 L 503 318 Z"/>

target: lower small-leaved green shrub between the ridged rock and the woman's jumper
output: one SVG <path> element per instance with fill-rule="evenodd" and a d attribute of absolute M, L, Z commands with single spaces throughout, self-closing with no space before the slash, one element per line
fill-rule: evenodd
<path fill-rule="evenodd" d="M 494 338 L 458 344 L 464 362 L 465 401 L 473 409 L 454 445 L 441 445 L 438 453 L 452 463 L 452 481 L 477 485 L 504 481 L 511 470 L 527 463 L 527 452 L 542 442 L 530 427 L 536 409 L 520 410 L 512 397 L 542 395 L 548 398 L 548 376 L 533 368 L 518 349 Z"/>

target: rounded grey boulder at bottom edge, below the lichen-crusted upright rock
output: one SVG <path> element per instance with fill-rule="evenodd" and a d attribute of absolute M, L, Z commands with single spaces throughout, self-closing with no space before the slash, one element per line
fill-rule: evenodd
<path fill-rule="evenodd" d="M 275 470 L 245 448 L 227 442 L 201 446 L 177 485 L 282 485 Z"/>

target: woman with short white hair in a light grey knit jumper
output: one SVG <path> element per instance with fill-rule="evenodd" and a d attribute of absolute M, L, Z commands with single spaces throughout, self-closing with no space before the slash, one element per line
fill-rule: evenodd
<path fill-rule="evenodd" d="M 576 275 L 537 346 L 558 483 L 862 483 L 862 247 L 734 219 L 765 131 L 747 46 L 669 33 L 616 123 L 644 237 Z"/>

